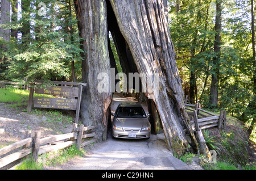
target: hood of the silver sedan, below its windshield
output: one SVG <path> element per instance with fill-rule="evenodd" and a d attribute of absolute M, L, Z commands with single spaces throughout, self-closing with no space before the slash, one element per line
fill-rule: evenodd
<path fill-rule="evenodd" d="M 123 128 L 143 128 L 150 126 L 147 118 L 115 117 L 113 122 L 115 126 Z"/>

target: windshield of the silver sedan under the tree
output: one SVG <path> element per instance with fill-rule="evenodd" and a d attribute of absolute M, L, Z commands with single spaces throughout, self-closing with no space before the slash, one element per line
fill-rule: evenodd
<path fill-rule="evenodd" d="M 142 107 L 119 107 L 116 117 L 145 118 L 146 113 Z"/>

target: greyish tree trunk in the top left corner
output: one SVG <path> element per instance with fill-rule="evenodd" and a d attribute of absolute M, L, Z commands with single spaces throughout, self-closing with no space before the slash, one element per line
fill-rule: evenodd
<path fill-rule="evenodd" d="M 1 0 L 1 25 L 10 23 L 10 1 Z M 10 29 L 0 28 L 0 37 L 3 37 L 5 41 L 10 41 Z"/>

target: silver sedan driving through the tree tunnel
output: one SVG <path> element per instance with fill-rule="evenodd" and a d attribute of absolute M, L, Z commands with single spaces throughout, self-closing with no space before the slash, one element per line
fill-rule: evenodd
<path fill-rule="evenodd" d="M 141 104 L 121 103 L 112 121 L 112 134 L 115 138 L 150 138 L 150 114 L 145 113 Z"/>

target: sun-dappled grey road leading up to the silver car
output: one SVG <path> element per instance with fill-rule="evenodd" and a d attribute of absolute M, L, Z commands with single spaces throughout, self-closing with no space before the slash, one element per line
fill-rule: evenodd
<path fill-rule="evenodd" d="M 112 111 L 120 102 L 127 99 L 114 96 Z M 130 100 L 132 101 L 132 99 Z M 147 108 L 144 107 L 147 112 Z M 151 134 L 148 140 L 127 140 L 112 138 L 91 146 L 84 158 L 73 159 L 60 167 L 52 169 L 192 169 L 175 158 L 167 149 L 164 134 Z"/>

